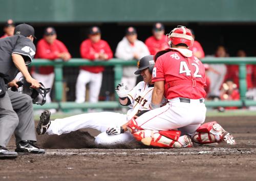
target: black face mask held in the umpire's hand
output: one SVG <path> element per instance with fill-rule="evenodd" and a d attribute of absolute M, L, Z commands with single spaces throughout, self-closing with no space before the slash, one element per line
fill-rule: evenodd
<path fill-rule="evenodd" d="M 44 105 L 46 103 L 46 95 L 50 92 L 51 88 L 45 88 L 41 82 L 39 82 L 41 84 L 39 88 L 31 88 L 31 84 L 25 79 L 16 82 L 16 84 L 19 88 L 12 87 L 11 90 L 29 95 L 32 98 L 33 104 Z M 20 90 L 20 87 L 23 87 L 23 90 Z M 41 101 L 39 95 L 42 97 Z"/>

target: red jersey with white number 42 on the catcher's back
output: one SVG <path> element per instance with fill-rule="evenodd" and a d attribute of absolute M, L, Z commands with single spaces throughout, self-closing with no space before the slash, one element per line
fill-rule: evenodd
<path fill-rule="evenodd" d="M 205 98 L 205 68 L 190 50 L 170 48 L 155 56 L 152 82 L 164 81 L 166 99 Z"/>

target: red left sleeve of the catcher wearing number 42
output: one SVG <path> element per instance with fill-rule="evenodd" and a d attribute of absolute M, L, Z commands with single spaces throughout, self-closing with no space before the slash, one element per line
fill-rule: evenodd
<path fill-rule="evenodd" d="M 157 58 L 155 63 L 153 73 L 152 73 L 152 82 L 164 80 L 164 56 Z"/>

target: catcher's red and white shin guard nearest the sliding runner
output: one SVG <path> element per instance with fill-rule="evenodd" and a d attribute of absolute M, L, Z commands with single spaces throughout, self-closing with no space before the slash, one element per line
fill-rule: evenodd
<path fill-rule="evenodd" d="M 182 148 L 181 143 L 165 137 L 163 134 L 160 134 L 159 131 L 139 130 L 133 133 L 133 136 L 136 140 L 148 146 L 156 146 L 161 148 Z"/>

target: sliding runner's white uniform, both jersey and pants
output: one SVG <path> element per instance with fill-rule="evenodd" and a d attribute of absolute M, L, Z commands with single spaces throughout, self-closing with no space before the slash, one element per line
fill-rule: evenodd
<path fill-rule="evenodd" d="M 129 92 L 127 97 L 131 100 L 131 104 L 129 105 L 131 109 L 127 111 L 127 115 L 115 112 L 93 112 L 56 119 L 51 121 L 46 134 L 60 135 L 82 128 L 94 128 L 102 132 L 96 137 L 96 144 L 110 145 L 131 142 L 134 138 L 129 131 L 111 136 L 106 134 L 105 131 L 109 127 L 122 126 L 139 111 L 147 110 L 151 102 L 153 88 L 153 85 L 148 86 L 144 81 L 141 81 Z"/>

